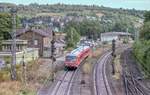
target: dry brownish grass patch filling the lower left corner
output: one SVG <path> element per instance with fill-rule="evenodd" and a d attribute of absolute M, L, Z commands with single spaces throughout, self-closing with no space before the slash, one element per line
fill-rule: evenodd
<path fill-rule="evenodd" d="M 22 81 L 22 65 L 16 66 L 17 81 L 10 80 L 8 68 L 1 70 L 0 95 L 36 95 L 36 91 L 43 85 L 50 74 L 50 68 L 45 68 L 43 65 L 42 61 L 33 61 L 26 65 L 26 85 Z"/>

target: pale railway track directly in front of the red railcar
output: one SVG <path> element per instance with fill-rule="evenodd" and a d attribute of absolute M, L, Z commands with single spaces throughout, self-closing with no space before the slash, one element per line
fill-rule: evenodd
<path fill-rule="evenodd" d="M 46 95 L 71 95 L 71 87 L 74 83 L 74 78 L 77 76 L 77 72 L 82 67 L 85 61 L 79 65 L 79 67 L 74 71 L 64 71 L 60 79 L 56 79 L 57 83 L 55 86 L 49 90 Z"/>

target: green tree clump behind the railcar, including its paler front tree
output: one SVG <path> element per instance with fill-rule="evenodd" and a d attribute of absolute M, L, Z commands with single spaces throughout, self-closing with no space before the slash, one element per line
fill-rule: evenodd
<path fill-rule="evenodd" d="M 67 33 L 66 40 L 68 47 L 75 47 L 80 36 L 96 40 L 100 38 L 101 25 L 98 21 L 84 20 L 83 22 L 69 22 L 64 29 Z"/>

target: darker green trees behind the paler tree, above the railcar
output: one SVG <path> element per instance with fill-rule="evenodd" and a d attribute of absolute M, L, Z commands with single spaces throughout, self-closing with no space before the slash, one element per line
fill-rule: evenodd
<path fill-rule="evenodd" d="M 100 38 L 100 33 L 103 32 L 102 25 L 97 20 L 83 20 L 82 22 L 71 21 L 66 25 L 65 29 L 69 29 L 70 27 L 74 28 L 79 35 L 94 40 Z"/>

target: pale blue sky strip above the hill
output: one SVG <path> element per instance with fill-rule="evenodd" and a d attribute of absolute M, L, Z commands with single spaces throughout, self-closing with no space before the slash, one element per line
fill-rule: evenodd
<path fill-rule="evenodd" d="M 28 5 L 30 3 L 38 4 L 82 4 L 82 5 L 103 5 L 112 8 L 125 8 L 137 10 L 150 10 L 150 0 L 0 0 L 5 3 L 15 3 Z"/>

